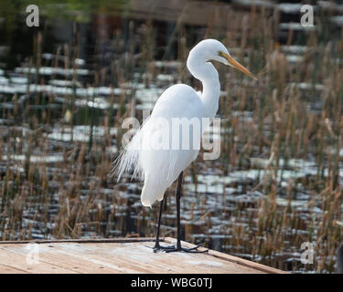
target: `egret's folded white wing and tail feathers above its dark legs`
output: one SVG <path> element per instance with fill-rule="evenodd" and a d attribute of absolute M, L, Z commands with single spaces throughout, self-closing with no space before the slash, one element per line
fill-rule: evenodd
<path fill-rule="evenodd" d="M 165 138 L 169 138 L 169 140 L 167 140 L 168 147 L 166 149 L 145 147 L 139 153 L 139 164 L 145 177 L 145 185 L 141 194 L 143 205 L 151 206 L 155 200 L 162 200 L 166 189 L 177 179 L 178 174 L 198 156 L 198 150 L 194 147 L 184 149 L 180 146 L 185 138 L 191 140 L 195 135 L 193 126 L 190 126 L 188 121 L 195 119 L 200 124 L 202 116 L 201 99 L 194 89 L 186 85 L 177 84 L 166 89 L 157 100 L 149 123 L 146 125 L 143 141 L 154 142 L 155 138 L 158 141 L 160 137 L 162 140 Z M 177 118 L 181 120 L 180 125 L 177 122 L 173 123 L 173 120 Z M 166 121 L 166 127 L 158 126 L 161 124 L 160 119 Z M 186 136 L 182 134 L 183 129 L 180 132 L 180 127 L 183 128 L 184 125 L 189 127 Z M 177 130 L 177 132 L 173 132 L 173 130 Z M 198 136 L 200 133 L 199 129 Z M 177 145 L 177 148 L 172 147 L 173 145 Z M 194 144 L 192 143 L 192 145 Z"/>

